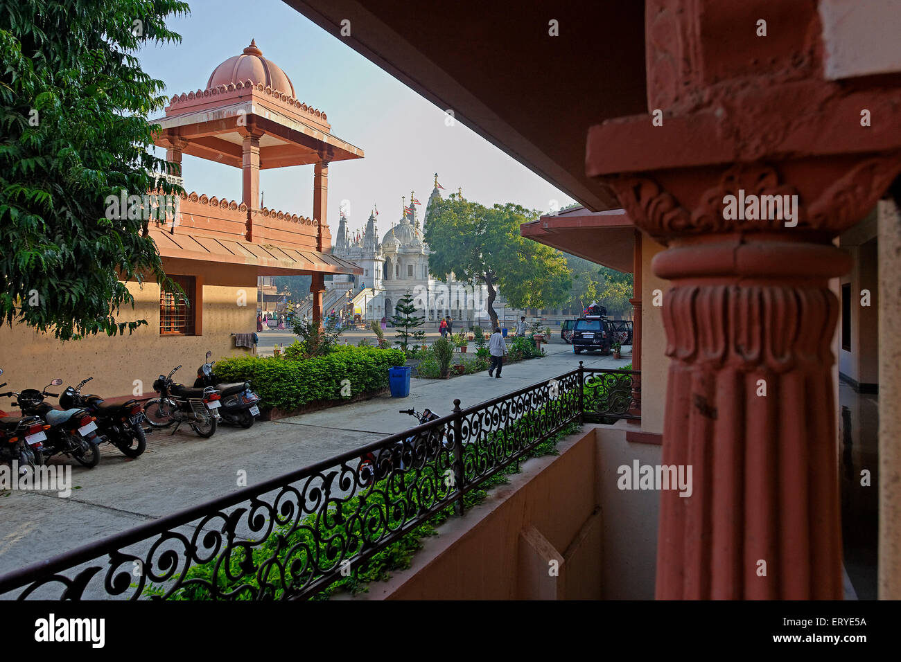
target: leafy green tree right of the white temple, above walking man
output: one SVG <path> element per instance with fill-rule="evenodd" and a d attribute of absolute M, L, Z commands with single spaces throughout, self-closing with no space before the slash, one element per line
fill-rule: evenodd
<path fill-rule="evenodd" d="M 559 250 L 527 240 L 519 226 L 540 216 L 519 204 L 487 208 L 460 199 L 434 200 L 425 223 L 425 241 L 432 249 L 429 271 L 446 280 L 484 283 L 487 311 L 496 327 L 497 289 L 514 308 L 548 308 L 569 298 L 571 272 Z"/>

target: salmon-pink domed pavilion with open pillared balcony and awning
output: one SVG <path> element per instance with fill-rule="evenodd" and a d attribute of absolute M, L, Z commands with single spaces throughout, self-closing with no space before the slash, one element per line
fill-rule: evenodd
<path fill-rule="evenodd" d="M 161 127 L 156 144 L 166 148 L 177 174 L 184 154 L 241 168 L 241 200 L 184 196 L 177 223 L 150 230 L 160 255 L 252 264 L 259 276 L 311 274 L 313 317 L 321 319 L 323 275 L 359 273 L 328 254 L 328 168 L 332 161 L 362 159 L 363 150 L 335 136 L 326 114 L 296 97 L 291 79 L 256 41 L 214 68 L 204 89 L 172 96 L 165 113 L 153 121 Z M 264 207 L 259 170 L 304 165 L 314 169 L 313 210 Z"/>

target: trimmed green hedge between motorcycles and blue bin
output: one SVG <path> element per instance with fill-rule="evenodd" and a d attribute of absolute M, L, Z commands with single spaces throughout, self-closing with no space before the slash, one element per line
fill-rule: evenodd
<path fill-rule="evenodd" d="M 321 400 L 341 399 L 344 379 L 350 380 L 351 397 L 386 388 L 388 368 L 405 362 L 400 349 L 341 347 L 315 358 L 223 358 L 216 363 L 215 373 L 223 382 L 250 382 L 264 407 L 291 411 Z"/>

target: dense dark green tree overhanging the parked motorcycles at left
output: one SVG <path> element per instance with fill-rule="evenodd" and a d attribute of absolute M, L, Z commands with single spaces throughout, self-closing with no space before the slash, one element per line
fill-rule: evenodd
<path fill-rule="evenodd" d="M 109 218 L 107 196 L 146 195 L 147 118 L 167 101 L 134 53 L 180 41 L 177 0 L 21 0 L 0 10 L 0 319 L 60 340 L 129 332 L 124 281 L 173 288 L 148 220 Z M 178 174 L 178 173 L 173 173 Z M 161 181 L 159 193 L 181 189 Z M 130 210 L 131 211 L 131 210 Z M 140 215 L 138 213 L 134 215 Z"/>

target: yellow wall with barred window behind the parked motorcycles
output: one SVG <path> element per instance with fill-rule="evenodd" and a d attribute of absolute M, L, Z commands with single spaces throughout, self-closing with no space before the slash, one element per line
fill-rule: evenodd
<path fill-rule="evenodd" d="M 255 268 L 167 259 L 163 268 L 168 274 L 204 279 L 202 335 L 160 336 L 159 286 L 130 282 L 128 288 L 135 305 L 133 310 L 130 306 L 123 309 L 121 319 L 148 322 L 148 326 L 132 335 L 126 331 L 113 338 L 96 336 L 60 342 L 23 325 L 0 328 L 0 367 L 4 369 L 0 383 L 9 383 L 4 390 L 41 388 L 55 377 L 61 378 L 65 387 L 93 376 L 94 380 L 86 386 L 87 393 L 103 397 L 132 395 L 142 386 L 144 394 L 151 395 L 153 380 L 178 364 L 183 367 L 176 373 L 177 381 L 193 384 L 207 349 L 214 358 L 250 353 L 250 349 L 235 349 L 231 334 L 256 330 Z M 241 289 L 247 293 L 245 306 L 238 305 Z M 135 385 L 135 380 L 141 380 L 141 385 Z M 50 389 L 53 393 L 58 390 Z M 4 406 L 8 402 L 0 400 L 0 408 L 8 411 Z"/>

